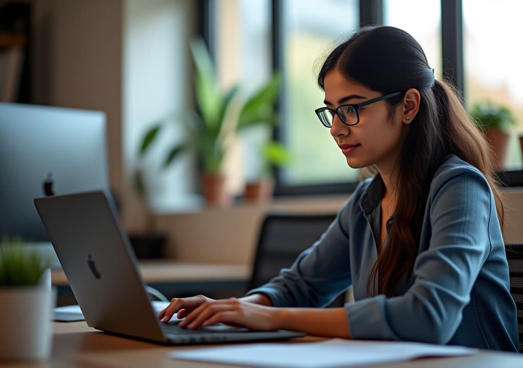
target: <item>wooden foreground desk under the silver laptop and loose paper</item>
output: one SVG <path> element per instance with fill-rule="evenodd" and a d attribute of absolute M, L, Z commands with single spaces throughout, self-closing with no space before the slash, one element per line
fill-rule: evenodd
<path fill-rule="evenodd" d="M 305 337 L 281 343 L 290 344 L 294 341 L 318 341 L 321 338 Z M 54 322 L 53 349 L 51 358 L 41 363 L 3 364 L 2 367 L 32 368 L 32 367 L 177 367 L 177 368 L 211 368 L 225 365 L 208 364 L 173 360 L 168 353 L 174 350 L 201 349 L 212 345 L 191 345 L 184 347 L 169 347 L 139 340 L 112 336 L 87 327 L 85 322 Z M 429 358 L 401 364 L 378 365 L 386 368 L 521 368 L 523 354 L 501 353 L 482 350 L 471 356 L 458 358 Z"/>

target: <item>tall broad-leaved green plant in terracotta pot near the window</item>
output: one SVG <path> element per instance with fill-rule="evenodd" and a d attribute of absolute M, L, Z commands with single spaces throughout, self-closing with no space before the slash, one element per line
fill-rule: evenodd
<path fill-rule="evenodd" d="M 221 173 L 222 162 L 231 137 L 246 127 L 275 121 L 274 103 L 279 90 L 279 76 L 273 75 L 252 96 L 245 99 L 240 95 L 240 85 L 221 91 L 217 72 L 207 47 L 201 39 L 190 44 L 195 65 L 195 92 L 198 113 L 174 114 L 174 121 L 181 122 L 187 130 L 187 139 L 170 148 L 163 167 L 169 166 L 181 153 L 196 152 L 201 167 L 201 187 L 208 205 L 225 206 L 232 196 L 226 193 L 225 177 Z M 166 119 L 154 124 L 144 135 L 139 156 L 147 152 L 160 135 Z"/>

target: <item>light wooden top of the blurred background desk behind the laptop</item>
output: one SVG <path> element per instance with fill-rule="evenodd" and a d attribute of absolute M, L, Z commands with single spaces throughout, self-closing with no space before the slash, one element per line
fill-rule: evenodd
<path fill-rule="evenodd" d="M 251 266 L 242 264 L 198 264 L 169 260 L 140 261 L 140 272 L 146 283 L 194 281 L 246 281 Z M 62 269 L 51 271 L 53 285 L 67 285 Z"/>

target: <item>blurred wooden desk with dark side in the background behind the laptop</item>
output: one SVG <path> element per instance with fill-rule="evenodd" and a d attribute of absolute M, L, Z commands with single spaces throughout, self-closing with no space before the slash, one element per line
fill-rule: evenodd
<path fill-rule="evenodd" d="M 251 266 L 241 264 L 184 263 L 171 260 L 140 261 L 146 284 L 167 298 L 204 294 L 211 298 L 240 297 L 246 292 Z M 57 306 L 76 304 L 62 269 L 51 271 L 58 288 Z"/>

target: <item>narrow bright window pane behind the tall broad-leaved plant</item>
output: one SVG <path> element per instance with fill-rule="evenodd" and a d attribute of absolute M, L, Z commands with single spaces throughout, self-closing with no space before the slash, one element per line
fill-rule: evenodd
<path fill-rule="evenodd" d="M 224 90 L 240 83 L 247 95 L 267 82 L 272 73 L 271 2 L 220 0 L 214 5 L 219 82 Z M 241 193 L 244 180 L 254 179 L 260 171 L 261 144 L 270 133 L 269 127 L 252 128 L 232 143 L 224 159 L 232 193 Z"/>

